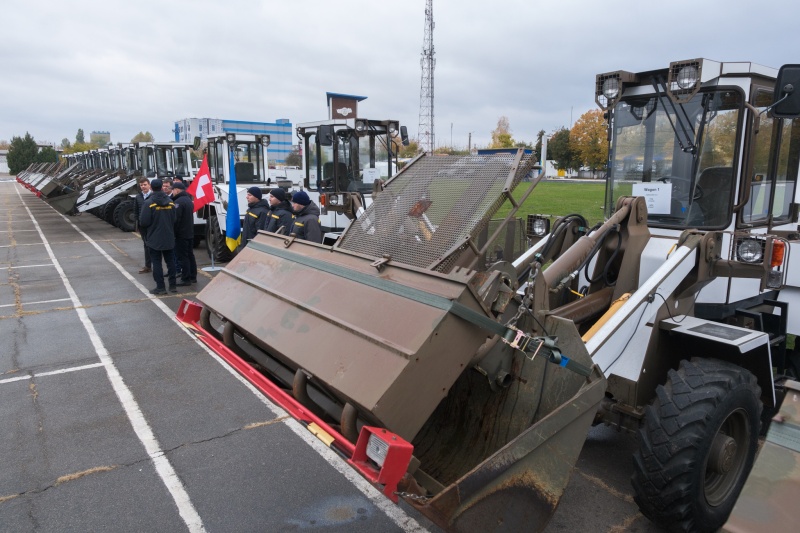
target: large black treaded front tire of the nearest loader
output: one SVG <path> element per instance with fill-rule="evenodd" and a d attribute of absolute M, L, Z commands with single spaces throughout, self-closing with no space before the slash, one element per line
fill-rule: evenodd
<path fill-rule="evenodd" d="M 760 396 L 755 376 L 732 363 L 695 358 L 670 370 L 647 407 L 633 456 L 642 514 L 671 531 L 719 529 L 753 466 Z M 715 440 L 729 453 L 712 452 Z"/>

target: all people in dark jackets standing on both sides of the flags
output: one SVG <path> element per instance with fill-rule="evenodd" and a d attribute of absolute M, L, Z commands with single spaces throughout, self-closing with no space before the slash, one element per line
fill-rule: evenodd
<path fill-rule="evenodd" d="M 152 294 L 178 292 L 179 286 L 197 283 L 194 257 L 194 201 L 180 178 L 173 181 L 143 177 L 134 204 L 136 228 L 144 243 L 145 266 L 140 274 L 153 273 Z M 305 191 L 290 195 L 274 188 L 267 199 L 259 187 L 247 189 L 247 212 L 242 225 L 242 246 L 258 230 L 294 234 L 298 239 L 322 242 L 320 210 Z M 162 261 L 167 265 L 164 274 Z M 180 281 L 178 281 L 180 274 Z M 167 279 L 168 286 L 164 284 Z M 167 289 L 168 287 L 168 289 Z"/>

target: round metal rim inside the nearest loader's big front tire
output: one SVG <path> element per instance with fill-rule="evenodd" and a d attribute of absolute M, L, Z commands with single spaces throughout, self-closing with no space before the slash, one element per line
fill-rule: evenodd
<path fill-rule="evenodd" d="M 749 440 L 747 411 L 736 409 L 714 435 L 706 457 L 704 492 L 709 505 L 721 505 L 737 486 L 747 462 Z"/>

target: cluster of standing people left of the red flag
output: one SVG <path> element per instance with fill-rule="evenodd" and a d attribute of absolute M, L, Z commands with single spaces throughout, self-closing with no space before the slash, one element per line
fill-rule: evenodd
<path fill-rule="evenodd" d="M 179 286 L 197 283 L 194 200 L 186 192 L 186 184 L 180 178 L 174 181 L 156 178 L 151 182 L 143 177 L 139 180 L 139 189 L 134 201 L 134 218 L 144 242 L 145 261 L 139 273 L 153 273 L 156 287 L 150 292 L 166 294 L 165 277 L 170 292 L 178 292 Z M 162 261 L 167 265 L 166 276 Z"/>

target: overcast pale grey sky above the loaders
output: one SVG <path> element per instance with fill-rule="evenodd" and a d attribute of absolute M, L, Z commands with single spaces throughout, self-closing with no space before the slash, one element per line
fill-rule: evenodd
<path fill-rule="evenodd" d="M 517 140 L 593 109 L 594 77 L 706 57 L 800 63 L 778 0 L 434 0 L 437 145 Z M 425 1 L 25 0 L 0 8 L 0 140 L 171 140 L 178 119 L 327 118 L 325 92 L 417 135 Z"/>

